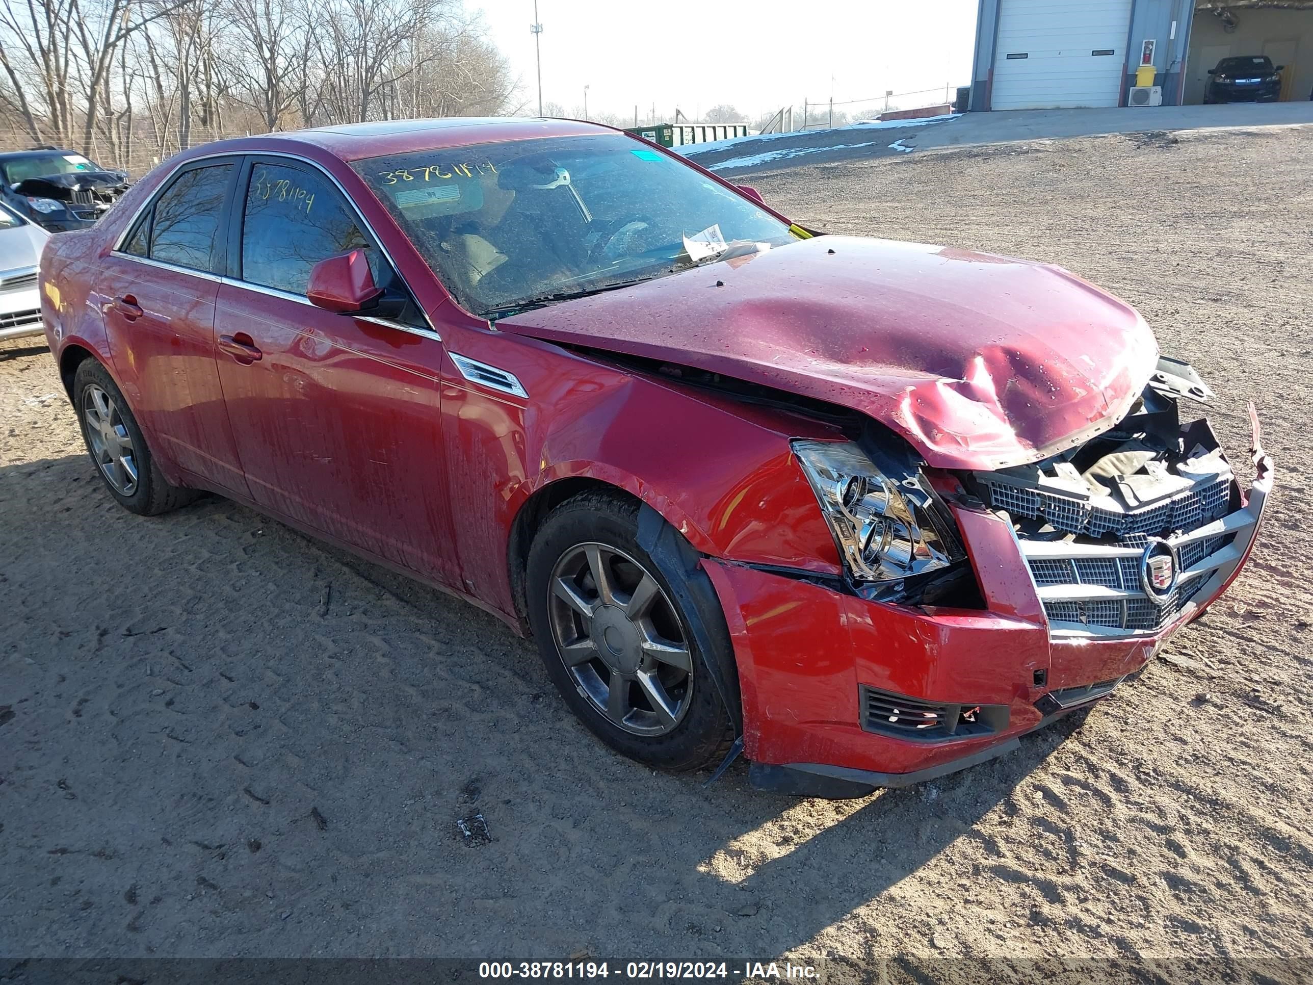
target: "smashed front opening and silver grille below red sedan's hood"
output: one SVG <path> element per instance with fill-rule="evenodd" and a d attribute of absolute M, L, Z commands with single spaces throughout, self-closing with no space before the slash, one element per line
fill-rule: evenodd
<path fill-rule="evenodd" d="M 1179 414 L 1180 401 L 1211 398 L 1191 366 L 1162 359 L 1112 429 L 1033 465 L 961 475 L 1012 521 L 1054 634 L 1155 633 L 1239 563 L 1258 512 L 1208 420 Z"/>

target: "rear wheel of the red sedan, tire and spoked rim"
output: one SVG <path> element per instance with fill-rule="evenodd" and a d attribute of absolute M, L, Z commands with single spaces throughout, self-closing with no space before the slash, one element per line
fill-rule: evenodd
<path fill-rule="evenodd" d="M 127 401 L 95 359 L 84 360 L 74 374 L 74 410 L 96 471 L 121 506 L 152 516 L 200 495 L 160 474 Z"/>

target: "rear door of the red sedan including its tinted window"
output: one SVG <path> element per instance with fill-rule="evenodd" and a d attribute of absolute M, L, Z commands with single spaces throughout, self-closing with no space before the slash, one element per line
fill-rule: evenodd
<path fill-rule="evenodd" d="M 155 448 L 198 485 L 246 494 L 214 364 L 221 231 L 239 158 L 184 165 L 105 257 L 97 286 L 114 370 Z"/>

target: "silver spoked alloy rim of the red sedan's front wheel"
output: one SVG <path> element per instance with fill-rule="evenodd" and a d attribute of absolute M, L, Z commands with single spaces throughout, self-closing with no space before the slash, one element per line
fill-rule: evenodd
<path fill-rule="evenodd" d="M 607 721 L 663 735 L 693 696 L 693 657 L 656 579 L 605 544 L 576 544 L 551 571 L 549 619 L 575 687 Z"/>

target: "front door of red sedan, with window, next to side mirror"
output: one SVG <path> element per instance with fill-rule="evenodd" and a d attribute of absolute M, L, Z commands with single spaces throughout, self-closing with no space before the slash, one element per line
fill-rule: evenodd
<path fill-rule="evenodd" d="M 334 179 L 252 156 L 239 180 L 215 328 L 219 376 L 253 499 L 327 536 L 456 584 L 439 416 L 442 345 L 411 305 L 397 320 L 306 298 L 310 269 L 365 250 L 404 290 Z"/>

